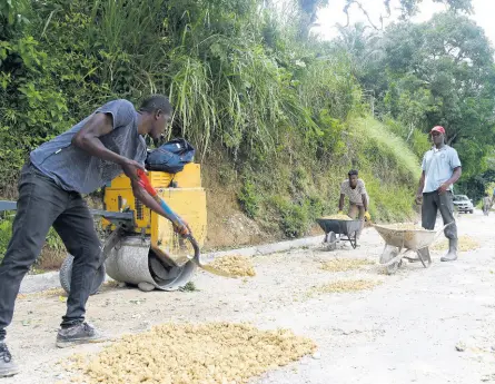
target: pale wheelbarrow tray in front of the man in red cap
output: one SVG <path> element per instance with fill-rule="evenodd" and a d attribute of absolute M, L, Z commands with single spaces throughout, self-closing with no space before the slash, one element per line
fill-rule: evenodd
<path fill-rule="evenodd" d="M 398 229 L 392 225 L 375 225 L 375 229 L 383 237 L 387 245 L 399 249 L 407 248 L 418 250 L 430 246 L 437 236 L 437 232 L 428 229 Z"/>

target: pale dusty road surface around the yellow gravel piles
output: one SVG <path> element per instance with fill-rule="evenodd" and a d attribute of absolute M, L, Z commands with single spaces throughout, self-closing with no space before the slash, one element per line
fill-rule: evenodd
<path fill-rule="evenodd" d="M 315 355 L 255 377 L 254 384 L 495 382 L 494 227 L 495 214 L 462 215 L 459 235 L 481 247 L 461 253 L 454 263 L 440 263 L 443 252 L 433 252 L 428 269 L 405 263 L 396 275 L 386 276 L 377 265 L 347 272 L 320 268 L 336 257 L 376 263 L 384 243 L 368 228 L 356 250 L 311 248 L 256 257 L 254 278 L 198 272 L 196 292 L 106 288 L 90 298 L 88 319 L 112 336 L 166 322 L 251 322 L 260 328 L 287 327 L 317 343 Z M 348 279 L 382 284 L 354 293 L 315 288 Z M 55 347 L 65 305 L 57 293 L 18 301 L 8 342 L 22 373 L 2 384 L 70 383 L 57 362 L 101 348 Z"/>

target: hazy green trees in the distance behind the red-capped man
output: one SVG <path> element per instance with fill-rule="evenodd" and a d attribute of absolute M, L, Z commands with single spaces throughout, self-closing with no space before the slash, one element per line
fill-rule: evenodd
<path fill-rule="evenodd" d="M 358 24 L 343 29 L 337 47 L 352 57 L 376 114 L 408 127 L 402 131 L 406 140 L 443 125 L 463 160 L 463 180 L 487 168 L 495 141 L 495 70 L 493 49 L 474 21 L 444 12 L 384 32 Z"/>

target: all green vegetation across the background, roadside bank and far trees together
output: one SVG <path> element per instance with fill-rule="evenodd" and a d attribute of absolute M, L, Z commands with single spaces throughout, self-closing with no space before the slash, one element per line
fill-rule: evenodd
<path fill-rule="evenodd" d="M 406 215 L 433 125 L 466 177 L 486 168 L 493 60 L 463 16 L 471 2 L 442 0 L 452 12 L 413 24 L 420 0 L 402 0 L 403 20 L 384 31 L 341 28 L 324 42 L 309 30 L 327 2 L 281 14 L 266 0 L 0 0 L 0 194 L 40 142 L 110 98 L 150 92 L 170 96 L 170 135 L 225 152 L 245 209 L 275 210 L 288 236 L 329 210 L 349 167 L 369 180 L 376 217 Z"/>

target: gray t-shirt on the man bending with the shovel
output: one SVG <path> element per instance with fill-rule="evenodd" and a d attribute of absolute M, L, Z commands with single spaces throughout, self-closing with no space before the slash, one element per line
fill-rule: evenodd
<path fill-rule="evenodd" d="M 113 130 L 100 137 L 103 146 L 128 159 L 145 164 L 146 142 L 138 134 L 138 112 L 132 104 L 123 99 L 113 100 L 93 114 L 98 112 L 112 117 Z M 71 145 L 72 137 L 91 116 L 42 144 L 30 155 L 31 163 L 65 190 L 90 194 L 122 174 L 119 165 L 99 159 Z"/>

